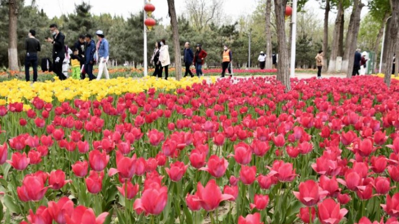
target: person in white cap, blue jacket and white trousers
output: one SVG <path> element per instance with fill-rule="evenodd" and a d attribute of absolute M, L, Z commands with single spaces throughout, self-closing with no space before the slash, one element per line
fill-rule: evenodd
<path fill-rule="evenodd" d="M 105 78 L 109 79 L 109 73 L 107 68 L 107 62 L 109 59 L 109 44 L 108 40 L 105 39 L 104 32 L 102 30 L 97 30 L 96 32 L 98 42 L 97 42 L 97 63 L 98 63 L 98 75 L 97 80 L 101 79 L 103 72 Z"/>

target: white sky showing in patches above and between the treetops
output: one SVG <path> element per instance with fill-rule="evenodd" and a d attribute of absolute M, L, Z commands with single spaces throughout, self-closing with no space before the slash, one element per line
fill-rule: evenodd
<path fill-rule="evenodd" d="M 61 14 L 73 13 L 75 4 L 82 1 L 90 3 L 92 13 L 101 14 L 109 12 L 111 15 L 123 15 L 127 18 L 130 13 L 137 13 L 143 10 L 144 0 L 36 0 L 39 8 L 50 17 Z M 224 13 L 229 14 L 233 19 L 237 19 L 240 15 L 251 14 L 255 9 L 259 0 L 224 0 Z M 365 1 L 365 0 L 363 0 Z M 175 0 L 176 12 L 178 15 L 185 11 L 185 0 Z M 25 4 L 30 4 L 31 0 L 25 0 Z M 169 22 L 168 3 L 167 0 L 151 0 L 155 5 L 154 15 L 157 19 L 163 18 L 164 23 Z M 317 14 L 317 18 L 324 19 L 324 10 L 320 9 L 320 5 L 316 0 L 309 0 L 306 9 L 313 10 Z M 367 9 L 362 10 L 362 15 L 367 13 Z M 335 16 L 330 16 L 335 19 Z"/>

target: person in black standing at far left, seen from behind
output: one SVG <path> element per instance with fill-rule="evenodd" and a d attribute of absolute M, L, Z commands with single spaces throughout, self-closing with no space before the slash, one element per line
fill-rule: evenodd
<path fill-rule="evenodd" d="M 30 81 L 29 67 L 32 65 L 33 69 L 33 82 L 37 82 L 37 52 L 40 51 L 40 42 L 34 36 L 36 31 L 31 29 L 28 33 L 28 38 L 25 40 L 25 80 Z"/>

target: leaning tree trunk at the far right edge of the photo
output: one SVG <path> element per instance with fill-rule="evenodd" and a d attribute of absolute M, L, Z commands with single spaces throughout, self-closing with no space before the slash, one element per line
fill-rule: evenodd
<path fill-rule="evenodd" d="M 397 47 L 397 39 L 398 39 L 398 30 L 399 30 L 399 0 L 391 1 L 392 8 L 392 17 L 389 19 L 389 30 L 386 31 L 386 40 L 387 40 L 387 48 L 384 48 L 384 58 L 386 58 L 384 63 L 383 73 L 385 74 L 384 82 L 388 87 L 391 86 L 391 74 L 392 74 L 392 65 L 393 65 L 393 57 Z M 398 56 L 398 55 L 397 55 Z M 397 57 L 398 58 L 398 57 Z M 398 64 L 398 59 L 395 60 L 396 65 Z M 397 67 L 397 66 L 395 66 Z"/>

